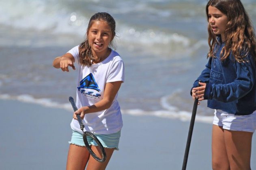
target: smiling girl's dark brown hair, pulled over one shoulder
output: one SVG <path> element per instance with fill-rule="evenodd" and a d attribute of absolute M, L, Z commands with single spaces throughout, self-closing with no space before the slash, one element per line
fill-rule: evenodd
<path fill-rule="evenodd" d="M 114 38 L 114 36 L 116 35 L 116 22 L 114 20 L 114 18 L 109 14 L 109 13 L 96 13 L 94 14 L 91 18 L 90 21 L 88 23 L 88 28 L 86 31 L 86 38 L 85 40 L 79 45 L 79 62 L 82 65 L 92 65 L 92 60 L 96 61 L 97 58 L 95 58 L 93 56 L 91 47 L 89 45 L 89 41 L 88 41 L 88 32 L 91 28 L 91 26 L 93 25 L 93 23 L 95 21 L 104 21 L 106 23 L 108 23 L 108 26 L 110 26 L 111 32 L 112 32 L 112 40 Z M 113 47 L 113 42 L 110 42 L 109 46 Z"/>

